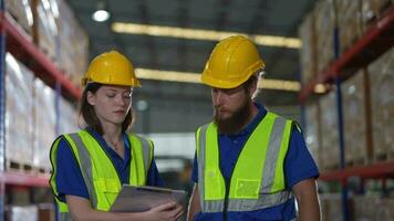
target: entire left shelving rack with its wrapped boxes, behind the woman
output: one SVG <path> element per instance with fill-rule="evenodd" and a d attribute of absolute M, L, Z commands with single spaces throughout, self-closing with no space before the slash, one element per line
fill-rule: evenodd
<path fill-rule="evenodd" d="M 0 2 L 0 220 L 53 220 L 49 147 L 77 128 L 81 90 L 73 81 L 86 67 L 87 39 L 83 31 L 70 39 L 80 38 L 80 53 L 60 45 L 74 34 L 70 29 L 81 30 L 63 1 L 60 18 L 48 1 Z"/>

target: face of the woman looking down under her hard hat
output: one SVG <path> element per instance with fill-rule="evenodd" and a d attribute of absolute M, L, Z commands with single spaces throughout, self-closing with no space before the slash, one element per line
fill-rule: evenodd
<path fill-rule="evenodd" d="M 103 85 L 96 93 L 87 92 L 87 102 L 102 124 L 122 125 L 131 106 L 133 88 Z"/>

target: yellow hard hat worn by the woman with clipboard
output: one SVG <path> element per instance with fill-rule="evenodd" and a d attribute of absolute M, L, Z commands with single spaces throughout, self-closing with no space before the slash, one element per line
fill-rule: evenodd
<path fill-rule="evenodd" d="M 141 87 L 132 62 L 116 51 L 104 52 L 94 57 L 81 82 L 83 86 L 89 82 L 96 82 L 101 84 Z"/>

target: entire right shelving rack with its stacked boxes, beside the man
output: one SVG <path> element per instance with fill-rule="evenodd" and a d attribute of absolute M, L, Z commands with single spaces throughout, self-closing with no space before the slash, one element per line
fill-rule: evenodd
<path fill-rule="evenodd" d="M 392 2 L 319 1 L 299 33 L 300 99 L 322 171 L 323 220 L 393 220 Z"/>

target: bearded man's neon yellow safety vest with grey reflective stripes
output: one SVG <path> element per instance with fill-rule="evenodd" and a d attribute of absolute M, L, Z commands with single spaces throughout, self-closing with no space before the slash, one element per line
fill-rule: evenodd
<path fill-rule="evenodd" d="M 284 203 L 283 162 L 293 122 L 268 112 L 246 141 L 229 183 L 219 168 L 214 123 L 197 129 L 198 190 L 201 212 L 256 211 Z M 225 160 L 225 159 L 221 159 Z M 226 219 L 225 219 L 226 220 Z"/>

